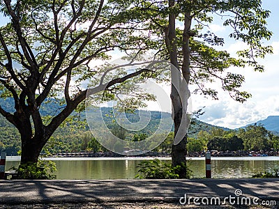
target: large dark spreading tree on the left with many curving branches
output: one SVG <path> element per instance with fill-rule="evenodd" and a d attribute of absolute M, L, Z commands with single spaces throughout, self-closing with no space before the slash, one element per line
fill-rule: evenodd
<path fill-rule="evenodd" d="M 5 0 L 0 28 L 1 98 L 14 100 L 14 111 L 0 114 L 17 127 L 22 141 L 21 164 L 36 163 L 43 146 L 87 95 L 116 88 L 146 70 L 109 74 L 91 68 L 114 49 L 130 52 L 151 42 L 133 21 L 127 1 Z M 1 17 L 2 18 L 2 17 Z M 90 93 L 82 81 L 91 80 Z M 56 98 L 61 108 L 45 120 L 40 107 Z"/>

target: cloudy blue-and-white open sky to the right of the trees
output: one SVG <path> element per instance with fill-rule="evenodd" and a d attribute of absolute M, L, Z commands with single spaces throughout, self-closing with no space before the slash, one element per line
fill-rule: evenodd
<path fill-rule="evenodd" d="M 205 114 L 200 119 L 206 123 L 223 127 L 236 128 L 249 123 L 254 123 L 267 116 L 279 115 L 279 13 L 278 0 L 263 0 L 263 8 L 270 10 L 268 21 L 269 30 L 273 37 L 266 45 L 273 46 L 273 54 L 259 60 L 265 66 L 265 72 L 254 72 L 251 68 L 230 69 L 246 77 L 243 90 L 252 94 L 247 102 L 241 104 L 229 98 L 227 93 L 220 91 L 219 100 L 213 101 L 199 95 L 192 95 L 193 109 L 204 107 Z M 229 29 L 222 24 L 214 22 L 210 25 L 212 31 L 218 36 L 227 37 Z M 230 54 L 235 54 L 238 49 L 243 49 L 243 43 L 228 40 L 223 48 Z M 219 86 L 219 87 L 217 87 Z M 220 89 L 220 84 L 216 84 Z"/>

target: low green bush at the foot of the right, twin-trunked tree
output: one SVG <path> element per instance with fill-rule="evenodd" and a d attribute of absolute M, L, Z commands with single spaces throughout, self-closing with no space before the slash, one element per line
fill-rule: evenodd
<path fill-rule="evenodd" d="M 139 166 L 137 166 L 137 168 L 140 169 L 137 171 L 138 174 L 135 178 L 179 178 L 178 173 L 181 169 L 186 171 L 186 178 L 193 176 L 193 172 L 190 171 L 185 164 L 182 166 L 172 167 L 171 163 L 162 162 L 158 159 L 144 160 L 139 164 Z"/>

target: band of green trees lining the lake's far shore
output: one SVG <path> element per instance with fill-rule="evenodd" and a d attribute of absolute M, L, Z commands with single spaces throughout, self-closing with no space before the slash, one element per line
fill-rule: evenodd
<path fill-rule="evenodd" d="M 127 141 L 141 141 L 149 137 L 149 134 L 146 133 L 133 134 L 121 129 L 113 129 L 113 133 Z M 163 136 L 160 134 L 156 136 L 156 138 L 160 137 Z M 170 132 L 165 141 L 153 151 L 171 153 L 173 138 L 174 132 Z M 47 143 L 45 150 L 49 150 L 50 153 L 70 153 L 82 150 L 94 153 L 107 151 L 89 130 L 77 130 L 68 134 L 66 129 L 56 132 L 50 142 Z M 257 124 L 248 125 L 246 128 L 239 130 L 223 130 L 222 128 L 211 127 L 209 130 L 192 132 L 188 138 L 187 150 L 189 153 L 202 152 L 203 150 L 279 150 L 279 136 Z"/>

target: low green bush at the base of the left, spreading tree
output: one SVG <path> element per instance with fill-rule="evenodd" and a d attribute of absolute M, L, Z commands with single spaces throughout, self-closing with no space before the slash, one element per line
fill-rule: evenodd
<path fill-rule="evenodd" d="M 20 164 L 16 169 L 16 179 L 32 179 L 32 180 L 43 180 L 43 179 L 54 179 L 56 175 L 52 174 L 56 171 L 56 164 L 50 160 L 38 160 L 36 164 Z"/>

